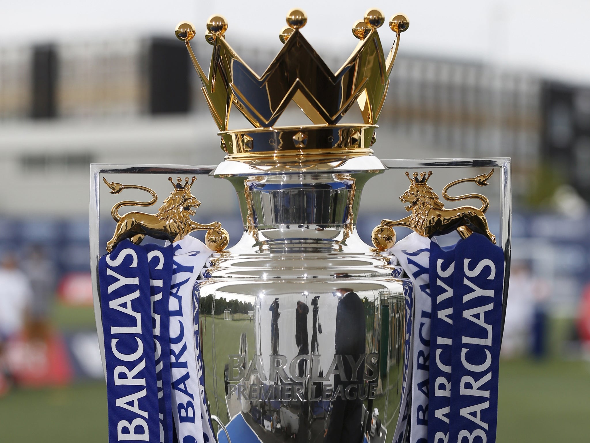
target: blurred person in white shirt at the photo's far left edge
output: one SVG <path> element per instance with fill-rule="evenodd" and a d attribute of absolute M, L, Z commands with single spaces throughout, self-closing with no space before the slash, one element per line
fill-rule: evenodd
<path fill-rule="evenodd" d="M 21 333 L 31 309 L 32 290 L 12 253 L 0 263 L 0 395 L 8 391 L 10 374 L 6 361 L 8 340 Z"/>

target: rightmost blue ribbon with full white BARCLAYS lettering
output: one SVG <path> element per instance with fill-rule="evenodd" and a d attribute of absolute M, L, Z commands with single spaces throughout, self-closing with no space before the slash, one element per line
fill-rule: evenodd
<path fill-rule="evenodd" d="M 455 247 L 449 442 L 494 443 L 504 253 L 481 234 Z"/>

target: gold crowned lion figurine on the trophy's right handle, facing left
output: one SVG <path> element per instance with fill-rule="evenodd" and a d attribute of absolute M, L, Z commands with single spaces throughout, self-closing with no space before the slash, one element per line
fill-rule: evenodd
<path fill-rule="evenodd" d="M 490 206 L 490 201 L 487 197 L 481 194 L 465 194 L 463 196 L 450 197 L 447 194 L 449 188 L 459 183 L 473 181 L 479 186 L 486 186 L 488 185 L 487 180 L 493 172 L 494 170 L 492 169 L 487 174 L 477 175 L 477 177 L 455 180 L 442 188 L 442 197 L 445 200 L 458 201 L 477 198 L 482 203 L 479 209 L 473 206 L 445 209 L 444 204 L 438 200 L 437 194 L 427 184 L 432 171 L 428 171 L 428 175 L 426 172 L 422 172 L 419 178 L 418 172 L 414 172 L 414 177 L 412 178 L 406 172 L 410 186 L 399 197 L 399 200 L 409 203 L 405 209 L 411 212 L 411 214 L 401 220 L 381 220 L 381 226 L 406 226 L 424 237 L 446 234 L 453 230 L 458 230 L 462 237 L 468 236 L 471 232 L 478 232 L 495 244 L 496 237 L 490 232 L 486 216 L 484 215 Z"/>

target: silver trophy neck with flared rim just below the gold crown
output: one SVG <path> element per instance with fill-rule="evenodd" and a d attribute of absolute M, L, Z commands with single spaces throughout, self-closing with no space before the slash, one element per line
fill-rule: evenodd
<path fill-rule="evenodd" d="M 224 165 L 230 163 L 226 161 L 215 175 L 234 185 L 244 229 L 257 242 L 334 243 L 354 232 L 362 188 L 384 169 L 378 159 L 369 158 L 341 162 L 338 168 L 315 165 L 300 170 L 253 170 L 234 161 Z M 242 173 L 235 173 L 236 167 Z M 230 170 L 234 173 L 221 173 Z"/>

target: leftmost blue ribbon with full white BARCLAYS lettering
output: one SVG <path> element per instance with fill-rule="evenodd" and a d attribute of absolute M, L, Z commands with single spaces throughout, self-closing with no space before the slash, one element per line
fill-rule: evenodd
<path fill-rule="evenodd" d="M 110 443 L 160 440 L 149 277 L 129 240 L 100 258 Z"/>

